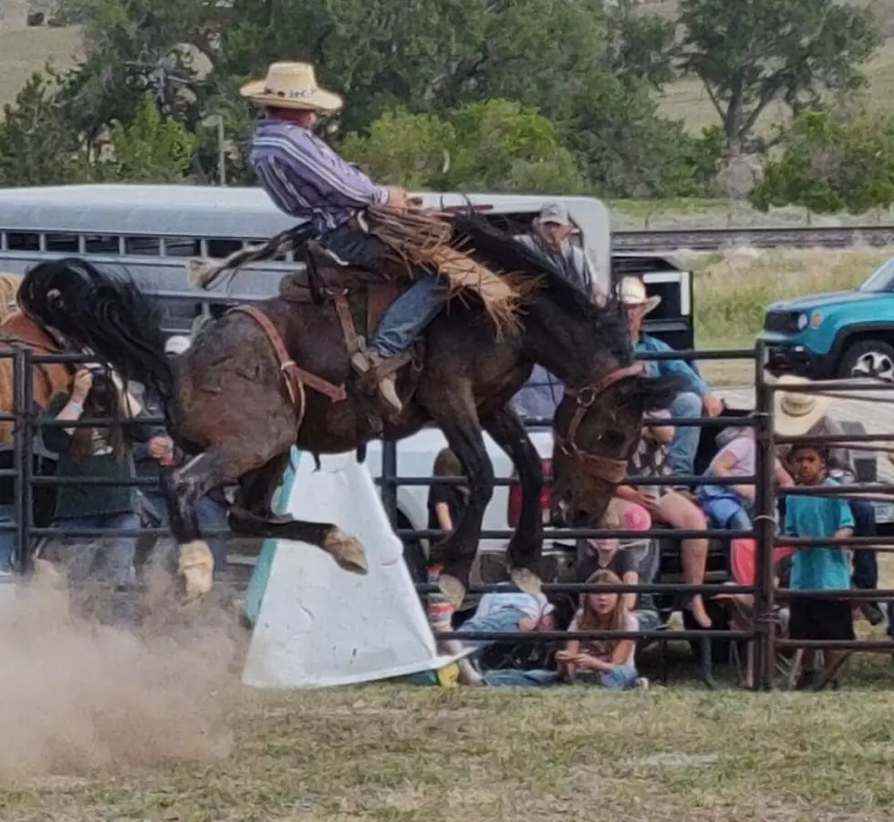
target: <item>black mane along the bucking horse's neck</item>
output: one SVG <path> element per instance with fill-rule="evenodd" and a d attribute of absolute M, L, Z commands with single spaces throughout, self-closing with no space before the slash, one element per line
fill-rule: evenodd
<path fill-rule="evenodd" d="M 538 277 L 537 292 L 567 317 L 591 327 L 600 348 L 607 349 L 623 361 L 632 358 L 627 321 L 617 300 L 609 299 L 604 307 L 599 306 L 589 295 L 569 283 L 548 257 L 519 243 L 515 234 L 496 227 L 480 214 L 456 214 L 452 217 L 452 223 L 454 231 L 467 240 L 468 253 L 496 271 Z"/>

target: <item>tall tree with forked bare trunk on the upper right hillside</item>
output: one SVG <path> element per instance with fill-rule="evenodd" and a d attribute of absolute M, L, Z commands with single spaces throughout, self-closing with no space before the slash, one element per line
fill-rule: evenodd
<path fill-rule="evenodd" d="M 775 100 L 797 113 L 860 88 L 880 45 L 872 15 L 835 0 L 681 0 L 680 23 L 681 67 L 702 79 L 733 154 Z"/>

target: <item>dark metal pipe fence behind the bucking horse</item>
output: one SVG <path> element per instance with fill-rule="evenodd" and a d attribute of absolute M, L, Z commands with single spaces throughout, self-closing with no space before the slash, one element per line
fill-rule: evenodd
<path fill-rule="evenodd" d="M 732 352 L 734 355 L 741 355 L 743 352 Z M 747 353 L 747 352 L 746 352 Z M 11 471 L 4 471 L 2 475 L 12 476 L 14 478 L 14 500 L 16 505 L 16 525 L 0 526 L 0 531 L 8 530 L 15 527 L 17 537 L 16 550 L 16 567 L 22 572 L 27 572 L 30 564 L 30 548 L 32 541 L 45 536 L 164 536 L 170 532 L 164 528 L 149 528 L 133 531 L 132 529 L 72 529 L 60 527 L 38 527 L 34 522 L 34 490 L 35 488 L 47 486 L 63 486 L 74 484 L 78 481 L 65 477 L 40 477 L 35 476 L 33 472 L 34 464 L 34 439 L 36 434 L 43 427 L 57 426 L 65 424 L 70 427 L 71 422 L 59 423 L 43 418 L 41 414 L 35 410 L 32 401 L 33 390 L 33 371 L 36 365 L 47 362 L 77 362 L 87 361 L 84 355 L 47 355 L 35 354 L 31 349 L 23 345 L 13 345 L 11 350 L 0 352 L 0 359 L 11 358 L 13 360 L 14 390 L 13 390 L 13 408 L 6 415 L 9 419 L 15 421 L 14 425 L 14 468 Z M 676 355 L 677 359 L 720 359 L 718 352 L 698 352 L 685 351 Z M 886 539 L 884 537 L 851 537 L 847 540 L 811 540 L 806 538 L 782 538 L 777 537 L 774 531 L 775 523 L 775 497 L 774 497 L 774 461 L 775 451 L 773 433 L 773 397 L 774 390 L 777 390 L 773 384 L 764 380 L 765 350 L 763 344 L 759 343 L 754 351 L 755 358 L 755 380 L 756 380 L 756 404 L 752 414 L 746 417 L 728 417 L 713 418 L 713 423 L 726 421 L 730 425 L 754 428 L 754 438 L 756 442 L 756 460 L 753 477 L 738 477 L 737 483 L 745 480 L 754 480 L 756 486 L 756 496 L 754 501 L 754 530 L 752 531 L 731 531 L 725 529 L 710 528 L 707 530 L 682 530 L 682 529 L 652 529 L 649 532 L 628 531 L 623 529 L 604 530 L 598 528 L 546 528 L 545 538 L 553 540 L 577 539 L 580 537 L 607 537 L 616 536 L 619 538 L 642 540 L 648 537 L 669 538 L 681 540 L 691 537 L 716 538 L 729 541 L 739 536 L 753 536 L 756 546 L 756 573 L 754 582 L 751 585 L 718 585 L 712 583 L 704 583 L 702 585 L 684 585 L 680 583 L 640 583 L 631 586 L 621 584 L 615 587 L 602 586 L 599 590 L 611 590 L 619 593 L 636 592 L 636 593 L 657 593 L 657 594 L 717 594 L 717 593 L 743 593 L 754 596 L 754 621 L 748 630 L 660 630 L 655 632 L 619 632 L 619 631 L 587 631 L 579 634 L 582 639 L 592 639 L 599 637 L 640 637 L 640 638 L 660 638 L 661 640 L 698 640 L 702 643 L 702 664 L 704 665 L 705 655 L 709 658 L 710 664 L 710 642 L 712 640 L 749 640 L 755 643 L 755 671 L 754 688 L 758 690 L 768 690 L 773 687 L 774 682 L 774 661 L 777 648 L 793 648 L 793 647 L 821 647 L 823 643 L 810 642 L 805 640 L 777 640 L 775 637 L 774 622 L 774 606 L 777 595 L 774 591 L 774 547 L 775 546 L 792 546 L 798 548 L 809 549 L 811 546 L 822 544 L 841 544 L 851 546 L 894 546 L 894 539 Z M 669 359 L 666 356 L 659 355 L 647 359 Z M 852 383 L 830 382 L 820 386 L 818 390 L 832 390 L 834 388 L 845 387 L 848 390 L 857 390 L 859 386 Z M 863 386 L 868 387 L 868 386 Z M 875 386 L 873 386 L 875 388 Z M 800 385 L 784 385 L 779 390 L 817 390 L 814 386 Z M 154 418 L 153 418 L 154 419 Z M 162 420 L 159 419 L 159 422 Z M 666 422 L 666 420 L 657 420 Z M 687 418 L 681 421 L 674 421 L 676 424 L 702 425 L 706 418 Z M 140 421 L 145 422 L 145 420 Z M 542 421 L 546 422 L 546 421 Z M 95 420 L 82 421 L 83 425 L 93 427 L 109 426 L 115 424 L 115 421 Z M 791 439 L 791 438 L 787 438 Z M 811 438 L 816 439 L 816 438 Z M 835 440 L 832 437 L 830 440 Z M 878 439 L 878 438 L 877 438 Z M 685 480 L 686 484 L 704 483 L 704 479 L 698 476 L 691 477 L 669 477 L 655 478 L 652 480 L 644 480 L 642 478 L 629 478 L 635 480 L 639 484 L 680 484 Z M 437 480 L 441 482 L 439 478 Z M 462 477 L 448 478 L 448 482 L 459 483 L 463 481 Z M 397 443 L 386 442 L 382 450 L 381 477 L 379 484 L 381 486 L 381 497 L 386 513 L 389 515 L 390 523 L 395 533 L 403 538 L 411 539 L 431 539 L 443 536 L 443 532 L 431 529 L 407 529 L 399 527 L 399 519 L 397 513 L 397 488 L 401 484 L 432 484 L 431 477 L 403 477 L 397 471 Z M 501 481 L 500 484 L 510 484 L 511 481 Z M 717 481 L 712 481 L 717 483 Z M 101 480 L 80 480 L 80 484 L 104 484 Z M 108 483 L 106 483 L 108 484 Z M 147 485 L 151 481 L 137 479 L 129 482 L 130 485 Z M 860 492 L 866 494 L 873 491 L 891 491 L 894 489 L 885 485 L 874 484 L 872 486 L 845 486 L 837 489 L 839 494 L 846 496 L 848 493 L 854 494 Z M 790 493 L 803 493 L 799 489 L 792 489 Z M 509 539 L 514 535 L 512 530 L 487 530 L 484 531 L 482 537 L 484 539 Z M 208 536 L 211 536 L 209 533 Z M 884 548 L 881 548 L 884 550 Z M 421 594 L 429 593 L 435 588 L 431 585 L 417 586 Z M 494 586 L 481 586 L 472 588 L 471 593 L 487 592 L 496 590 Z M 569 583 L 547 583 L 544 590 L 554 593 L 576 594 L 584 593 L 587 590 L 594 590 L 593 586 L 577 585 Z M 840 593 L 840 592 L 839 592 Z M 891 591 L 850 591 L 848 597 L 857 599 L 871 598 L 888 598 Z M 798 591 L 795 592 L 793 598 L 801 598 L 806 596 L 829 596 L 829 592 L 822 591 Z M 779 599 L 790 598 L 788 592 L 781 593 Z M 439 635 L 440 636 L 440 635 Z M 513 640 L 513 641 L 556 641 L 568 639 L 571 635 L 565 632 L 535 632 L 532 634 L 504 634 L 504 633 L 457 633 L 444 634 L 444 639 L 464 639 L 464 640 Z M 578 634 L 575 634 L 578 636 Z M 705 643 L 708 643 L 707 645 Z M 870 643 L 836 643 L 836 647 L 856 648 L 862 650 L 892 650 L 894 644 L 870 642 Z M 702 669 L 704 671 L 704 668 Z M 704 675 L 705 681 L 711 683 L 710 673 Z"/>

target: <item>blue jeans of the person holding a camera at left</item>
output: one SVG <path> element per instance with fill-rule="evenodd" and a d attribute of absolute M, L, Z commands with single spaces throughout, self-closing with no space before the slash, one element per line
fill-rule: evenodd
<path fill-rule="evenodd" d="M 68 516 L 53 521 L 56 528 L 127 528 L 140 529 L 136 513 L 92 516 Z M 64 562 L 68 584 L 83 587 L 88 581 L 105 582 L 110 588 L 130 588 L 133 582 L 133 559 L 136 536 L 67 536 L 63 537 Z"/>

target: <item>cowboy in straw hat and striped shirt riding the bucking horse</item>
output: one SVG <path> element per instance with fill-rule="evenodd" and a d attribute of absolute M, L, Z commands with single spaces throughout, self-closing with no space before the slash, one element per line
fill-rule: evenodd
<path fill-rule="evenodd" d="M 405 210 L 407 192 L 376 185 L 314 134 L 317 118 L 341 109 L 342 99 L 317 85 L 308 63 L 274 63 L 264 79 L 246 83 L 240 93 L 266 110 L 255 126 L 249 161 L 271 200 L 289 216 L 309 220 L 340 262 L 379 270 L 385 245 L 357 218 L 370 205 Z M 415 271 L 413 279 L 381 318 L 369 349 L 351 359 L 359 374 L 374 378 L 379 400 L 395 415 L 402 409 L 396 369 L 449 294 L 428 270 Z"/>

